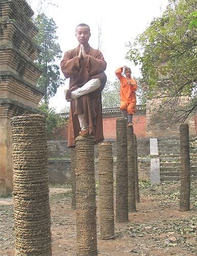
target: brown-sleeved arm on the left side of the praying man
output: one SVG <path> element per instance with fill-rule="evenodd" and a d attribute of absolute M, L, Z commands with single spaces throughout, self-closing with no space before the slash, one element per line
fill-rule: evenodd
<path fill-rule="evenodd" d="M 66 52 L 60 63 L 60 67 L 65 78 L 76 76 L 81 69 L 79 57 L 72 58 L 70 53 Z"/>

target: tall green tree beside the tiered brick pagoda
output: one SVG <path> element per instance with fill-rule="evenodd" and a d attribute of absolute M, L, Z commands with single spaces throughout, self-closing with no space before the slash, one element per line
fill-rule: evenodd
<path fill-rule="evenodd" d="M 35 38 L 40 48 L 40 54 L 36 60 L 37 66 L 42 70 L 37 86 L 44 91 L 44 102 L 53 97 L 57 88 L 61 86 L 64 79 L 60 78 L 59 66 L 56 61 L 61 58 L 62 51 L 57 43 L 57 26 L 53 18 L 48 18 L 44 13 L 35 18 L 38 34 Z"/>

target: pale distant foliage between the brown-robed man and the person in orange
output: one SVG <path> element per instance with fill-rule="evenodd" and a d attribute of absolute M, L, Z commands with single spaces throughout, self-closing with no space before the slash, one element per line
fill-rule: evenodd
<path fill-rule="evenodd" d="M 110 82 L 109 80 L 106 82 L 106 85 L 102 92 L 103 108 L 111 108 L 113 106 L 119 106 L 119 103 L 120 103 L 119 91 L 120 91 L 120 84 L 118 79 L 116 79 L 114 82 Z"/>

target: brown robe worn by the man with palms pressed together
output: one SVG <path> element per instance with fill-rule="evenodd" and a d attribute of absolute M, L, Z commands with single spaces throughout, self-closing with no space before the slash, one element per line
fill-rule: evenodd
<path fill-rule="evenodd" d="M 89 124 L 90 134 L 96 142 L 104 140 L 101 92 L 104 89 L 107 77 L 104 73 L 106 61 L 99 50 L 86 46 L 87 57 L 80 60 L 78 55 L 80 46 L 69 50 L 64 54 L 61 61 L 61 70 L 65 78 L 70 78 L 69 90 L 74 91 L 82 87 L 92 78 L 99 78 L 101 86 L 92 93 L 81 96 L 70 102 L 70 115 L 68 124 L 68 147 L 75 146 L 75 138 L 79 136 L 80 124 L 78 115 L 85 115 L 86 123 Z"/>

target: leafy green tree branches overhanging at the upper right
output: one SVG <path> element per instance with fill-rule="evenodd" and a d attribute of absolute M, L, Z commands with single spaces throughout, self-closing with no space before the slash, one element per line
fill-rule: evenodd
<path fill-rule="evenodd" d="M 134 42 L 129 42 L 127 58 L 141 65 L 149 95 L 158 95 L 158 80 L 163 81 L 165 95 L 162 106 L 170 102 L 176 117 L 185 120 L 195 110 L 196 99 L 196 2 L 169 1 L 166 11 L 155 18 Z M 172 83 L 165 84 L 164 78 Z M 189 96 L 189 103 L 180 105 L 180 98 Z M 166 106 L 167 104 L 167 106 Z"/>

